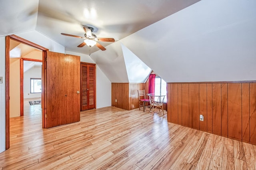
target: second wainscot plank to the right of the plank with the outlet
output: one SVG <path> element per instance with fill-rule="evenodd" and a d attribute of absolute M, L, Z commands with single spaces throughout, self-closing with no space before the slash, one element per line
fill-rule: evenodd
<path fill-rule="evenodd" d="M 212 84 L 212 132 L 221 136 L 221 84 Z"/>

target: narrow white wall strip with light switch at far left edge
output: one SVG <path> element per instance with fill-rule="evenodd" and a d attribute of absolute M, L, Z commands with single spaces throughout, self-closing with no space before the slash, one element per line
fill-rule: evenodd
<path fill-rule="evenodd" d="M 0 37 L 0 152 L 5 150 L 5 37 Z"/>

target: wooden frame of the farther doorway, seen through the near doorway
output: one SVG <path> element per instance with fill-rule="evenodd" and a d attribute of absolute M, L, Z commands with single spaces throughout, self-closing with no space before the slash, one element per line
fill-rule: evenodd
<path fill-rule="evenodd" d="M 20 58 L 20 116 L 24 115 L 24 68 L 23 68 L 23 61 L 37 61 L 37 62 L 42 62 L 41 59 L 31 59 L 31 58 Z M 42 77 L 41 77 L 42 79 Z M 42 92 L 41 92 L 42 93 Z"/>

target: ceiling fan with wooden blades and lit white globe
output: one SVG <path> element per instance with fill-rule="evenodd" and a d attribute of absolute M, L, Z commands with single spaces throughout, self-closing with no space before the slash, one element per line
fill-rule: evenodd
<path fill-rule="evenodd" d="M 97 38 L 97 36 L 95 34 L 92 34 L 93 31 L 94 31 L 94 28 L 92 28 L 92 27 L 84 27 L 84 32 L 85 32 L 84 37 L 74 36 L 74 35 L 65 34 L 65 33 L 61 33 L 61 35 L 84 39 L 84 42 L 80 43 L 77 47 L 83 47 L 84 45 L 88 45 L 89 47 L 92 47 L 92 46 L 96 45 L 102 51 L 106 50 L 106 48 L 104 46 L 100 45 L 100 43 L 98 43 L 98 41 L 100 41 L 100 42 L 115 42 L 114 38 Z"/>

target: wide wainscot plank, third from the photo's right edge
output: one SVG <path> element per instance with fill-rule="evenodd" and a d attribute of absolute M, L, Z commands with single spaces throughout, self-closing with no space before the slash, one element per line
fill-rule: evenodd
<path fill-rule="evenodd" d="M 242 85 L 228 83 L 228 138 L 242 140 Z"/>

